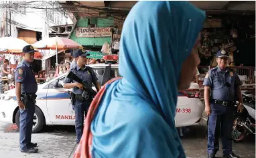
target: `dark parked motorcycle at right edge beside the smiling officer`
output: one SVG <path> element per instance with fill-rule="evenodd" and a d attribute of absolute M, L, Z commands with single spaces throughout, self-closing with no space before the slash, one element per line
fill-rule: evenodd
<path fill-rule="evenodd" d="M 255 135 L 255 96 L 247 91 L 242 92 L 242 96 L 243 112 L 234 113 L 232 139 L 235 143 L 243 141 L 247 135 Z"/>

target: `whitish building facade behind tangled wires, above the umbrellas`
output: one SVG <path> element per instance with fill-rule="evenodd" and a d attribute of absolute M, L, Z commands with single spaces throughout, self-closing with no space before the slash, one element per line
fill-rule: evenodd
<path fill-rule="evenodd" d="M 72 24 L 68 15 L 54 9 L 54 1 L 0 1 L 0 36 L 19 37 L 29 44 L 49 37 L 53 25 Z"/>

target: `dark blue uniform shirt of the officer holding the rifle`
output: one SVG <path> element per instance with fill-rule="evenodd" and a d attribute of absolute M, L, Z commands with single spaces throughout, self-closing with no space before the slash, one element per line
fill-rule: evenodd
<path fill-rule="evenodd" d="M 90 70 L 89 70 L 90 69 Z M 89 86 L 92 87 L 92 81 L 96 82 L 98 80 L 97 76 L 94 74 L 92 68 L 89 66 L 86 66 L 84 69 L 80 68 L 78 65 L 76 65 L 75 68 L 70 69 L 76 76 L 78 76 L 80 79 L 86 81 Z M 92 73 L 92 74 L 90 74 Z M 75 80 L 70 80 L 69 78 L 65 78 L 64 83 L 75 83 Z M 78 87 L 73 88 L 74 94 L 82 94 L 83 90 L 80 90 Z"/>

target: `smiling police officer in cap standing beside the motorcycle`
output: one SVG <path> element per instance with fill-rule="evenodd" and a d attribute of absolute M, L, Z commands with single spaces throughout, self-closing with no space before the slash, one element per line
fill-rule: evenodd
<path fill-rule="evenodd" d="M 225 50 L 216 54 L 218 66 L 208 71 L 204 79 L 205 112 L 208 116 L 208 157 L 215 157 L 219 149 L 218 136 L 222 135 L 222 154 L 237 158 L 232 151 L 231 131 L 235 98 L 239 100 L 238 112 L 243 111 L 241 81 L 237 73 L 227 68 L 229 55 Z"/>

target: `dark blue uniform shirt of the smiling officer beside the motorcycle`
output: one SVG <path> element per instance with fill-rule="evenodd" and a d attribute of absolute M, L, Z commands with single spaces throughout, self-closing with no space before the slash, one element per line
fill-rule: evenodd
<path fill-rule="evenodd" d="M 216 67 L 208 71 L 203 86 L 211 88 L 211 99 L 233 101 L 236 95 L 235 90 L 238 86 L 241 86 L 241 81 L 234 70 L 227 68 L 222 71 Z"/>

